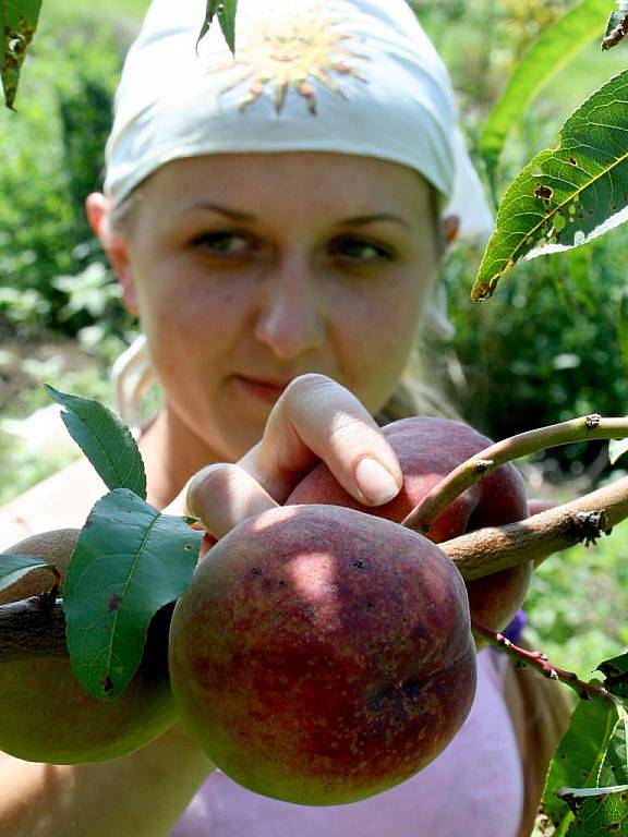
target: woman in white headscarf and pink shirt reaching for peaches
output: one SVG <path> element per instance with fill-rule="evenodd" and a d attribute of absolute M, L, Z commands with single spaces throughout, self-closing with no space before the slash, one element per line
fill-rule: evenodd
<path fill-rule="evenodd" d="M 176 13 L 156 0 L 125 64 L 106 194 L 87 213 L 164 391 L 140 436 L 148 500 L 217 537 L 319 459 L 364 502 L 399 490 L 372 416 L 421 411 L 404 376 L 419 337 L 446 326 L 444 247 L 487 223 L 446 72 L 406 3 L 383 7 L 241 0 L 234 63 L 217 29 L 194 50 L 203 0 Z M 82 525 L 101 493 L 71 465 L 3 510 L 5 545 Z M 523 778 L 503 669 L 482 652 L 452 743 L 364 802 L 257 797 L 177 725 L 114 762 L 4 756 L 0 834 L 515 837 Z"/>

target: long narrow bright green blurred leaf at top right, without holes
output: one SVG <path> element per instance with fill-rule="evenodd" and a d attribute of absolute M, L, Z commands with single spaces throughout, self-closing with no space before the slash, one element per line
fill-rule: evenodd
<path fill-rule="evenodd" d="M 480 151 L 495 191 L 495 170 L 509 131 L 520 123 L 539 92 L 592 40 L 600 37 L 608 0 L 583 0 L 533 44 L 493 106 L 480 138 Z"/>

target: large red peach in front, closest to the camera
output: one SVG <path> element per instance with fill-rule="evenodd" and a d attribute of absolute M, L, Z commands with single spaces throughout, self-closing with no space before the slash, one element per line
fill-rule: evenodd
<path fill-rule="evenodd" d="M 240 523 L 196 568 L 170 628 L 181 717 L 244 787 L 310 805 L 404 781 L 473 701 L 464 583 L 432 542 L 335 506 Z"/>

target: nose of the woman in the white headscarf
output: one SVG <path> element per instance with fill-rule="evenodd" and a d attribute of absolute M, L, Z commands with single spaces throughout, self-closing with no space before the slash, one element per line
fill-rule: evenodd
<path fill-rule="evenodd" d="M 255 337 L 283 361 L 325 340 L 325 301 L 304 259 L 289 258 L 267 275 L 262 289 Z"/>

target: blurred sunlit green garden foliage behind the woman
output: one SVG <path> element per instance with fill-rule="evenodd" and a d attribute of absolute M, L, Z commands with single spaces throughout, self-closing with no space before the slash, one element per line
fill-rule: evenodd
<path fill-rule="evenodd" d="M 517 60 L 573 3 L 439 0 L 412 3 L 454 77 L 475 149 Z M 613 3 L 608 3 L 611 12 Z M 16 112 L 0 111 L 0 504 L 80 456 L 43 384 L 112 404 L 109 369 L 136 333 L 85 220 L 101 185 L 102 149 L 124 52 L 147 0 L 44 0 Z M 510 136 L 500 193 L 565 118 L 623 70 L 627 47 L 600 37 L 561 71 Z M 469 294 L 482 252 L 458 247 L 444 271 L 455 337 L 443 374 L 462 414 L 498 439 L 596 412 L 628 412 L 628 228 L 516 268 L 494 298 Z M 626 475 L 605 445 L 569 446 L 519 463 L 538 497 L 571 499 Z M 589 677 L 628 645 L 628 524 L 536 572 L 530 635 L 558 665 Z"/>

